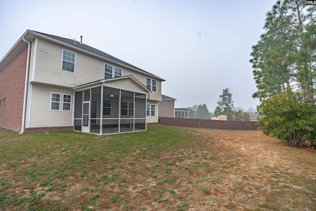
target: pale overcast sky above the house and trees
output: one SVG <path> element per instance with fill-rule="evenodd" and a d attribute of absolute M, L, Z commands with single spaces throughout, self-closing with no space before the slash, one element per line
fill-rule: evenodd
<path fill-rule="evenodd" d="M 166 80 L 177 108 L 259 101 L 251 46 L 276 0 L 0 0 L 0 59 L 27 30 L 80 40 Z"/>

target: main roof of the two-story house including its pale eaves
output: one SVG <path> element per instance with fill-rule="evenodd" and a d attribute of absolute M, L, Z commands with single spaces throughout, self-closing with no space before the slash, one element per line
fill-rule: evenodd
<path fill-rule="evenodd" d="M 78 41 L 75 41 L 75 40 L 72 40 L 72 39 L 67 39 L 67 38 L 62 38 L 62 37 L 58 37 L 58 36 L 55 36 L 55 35 L 49 35 L 49 34 L 45 34 L 45 33 L 41 33 L 41 32 L 37 32 L 37 31 L 33 31 L 33 30 L 27 30 L 23 35 L 22 37 L 14 44 L 14 46 L 10 49 L 10 51 L 0 60 L 0 64 L 5 61 L 6 57 L 10 54 L 11 51 L 14 51 L 14 48 L 16 46 L 19 46 L 19 47 L 24 47 L 26 45 L 26 42 L 23 41 L 23 38 L 25 37 L 27 40 L 28 39 L 34 39 L 35 36 L 38 36 L 40 38 L 43 38 L 43 39 L 47 39 L 47 40 L 50 40 L 50 41 L 57 41 L 57 42 L 62 42 L 60 44 L 66 44 L 66 45 L 72 45 L 74 48 L 79 48 L 80 50 L 82 51 L 86 51 L 86 52 L 89 52 L 90 54 L 94 54 L 94 55 L 97 55 L 97 56 L 101 56 L 103 57 L 104 59 L 106 60 L 111 60 L 115 63 L 119 63 L 121 65 L 124 65 L 124 66 L 127 66 L 127 67 L 130 67 L 130 68 L 133 68 L 135 70 L 138 70 L 138 71 L 141 71 L 141 72 L 144 72 L 146 74 L 149 74 L 149 75 L 152 75 L 154 76 L 155 78 L 161 80 L 161 81 L 165 81 L 164 79 L 161 79 L 159 78 L 158 76 L 155 76 L 154 74 L 151 74 L 145 70 L 142 70 L 138 67 L 135 67 L 127 62 L 124 62 L 114 56 L 111 56 L 110 54 L 107 54 L 101 50 L 98 50 L 94 47 L 91 47 L 89 45 L 86 45 L 86 44 L 80 44 L 80 42 Z M 8 58 L 7 59 L 9 62 L 11 60 L 11 58 Z M 6 63 L 6 62 L 5 62 Z M 3 66 L 5 66 L 6 64 L 3 64 Z M 0 65 L 0 71 L 2 69 L 2 65 Z"/>

